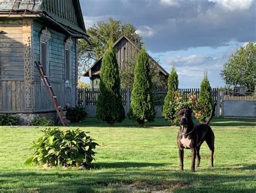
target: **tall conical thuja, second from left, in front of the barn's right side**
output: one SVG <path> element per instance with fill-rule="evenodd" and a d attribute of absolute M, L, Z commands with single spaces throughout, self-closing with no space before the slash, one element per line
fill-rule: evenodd
<path fill-rule="evenodd" d="M 139 52 L 135 68 L 131 108 L 129 112 L 129 117 L 137 121 L 140 126 L 144 126 L 146 122 L 154 121 L 156 117 L 151 89 L 152 80 L 149 55 L 147 55 L 146 49 L 142 48 Z"/>

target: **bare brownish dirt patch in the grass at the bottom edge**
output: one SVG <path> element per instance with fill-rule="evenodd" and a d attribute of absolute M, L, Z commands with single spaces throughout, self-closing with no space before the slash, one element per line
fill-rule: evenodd
<path fill-rule="evenodd" d="M 116 188 L 122 192 L 173 192 L 177 188 L 186 188 L 189 183 L 177 181 L 144 182 L 135 181 L 131 184 L 116 184 Z"/>

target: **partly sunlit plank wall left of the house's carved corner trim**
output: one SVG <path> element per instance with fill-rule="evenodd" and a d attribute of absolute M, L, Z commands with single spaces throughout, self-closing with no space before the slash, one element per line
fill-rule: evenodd
<path fill-rule="evenodd" d="M 22 19 L 0 19 L 0 113 L 24 111 Z"/>

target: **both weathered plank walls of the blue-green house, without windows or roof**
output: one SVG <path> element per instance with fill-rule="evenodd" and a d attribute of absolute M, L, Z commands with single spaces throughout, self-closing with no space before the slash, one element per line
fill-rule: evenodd
<path fill-rule="evenodd" d="M 32 31 L 29 26 L 32 26 Z M 22 19 L 0 20 L 0 113 L 54 110 L 33 64 L 33 61 L 40 60 L 39 34 L 44 27 L 37 22 L 30 24 Z M 72 39 L 70 52 L 71 88 L 66 88 L 64 43 L 69 37 L 50 28 L 49 31 L 49 80 L 62 106 L 65 103 L 76 105 L 76 40 Z"/>

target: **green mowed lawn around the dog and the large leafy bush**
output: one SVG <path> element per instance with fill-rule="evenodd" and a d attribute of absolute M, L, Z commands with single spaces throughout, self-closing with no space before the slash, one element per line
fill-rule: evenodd
<path fill-rule="evenodd" d="M 256 120 L 213 119 L 214 168 L 206 143 L 201 166 L 191 173 L 185 150 L 179 171 L 177 127 L 163 119 L 145 128 L 130 120 L 108 127 L 94 118 L 62 129 L 81 128 L 97 139 L 95 168 L 25 166 L 36 127 L 0 127 L 0 192 L 256 192 Z"/>

